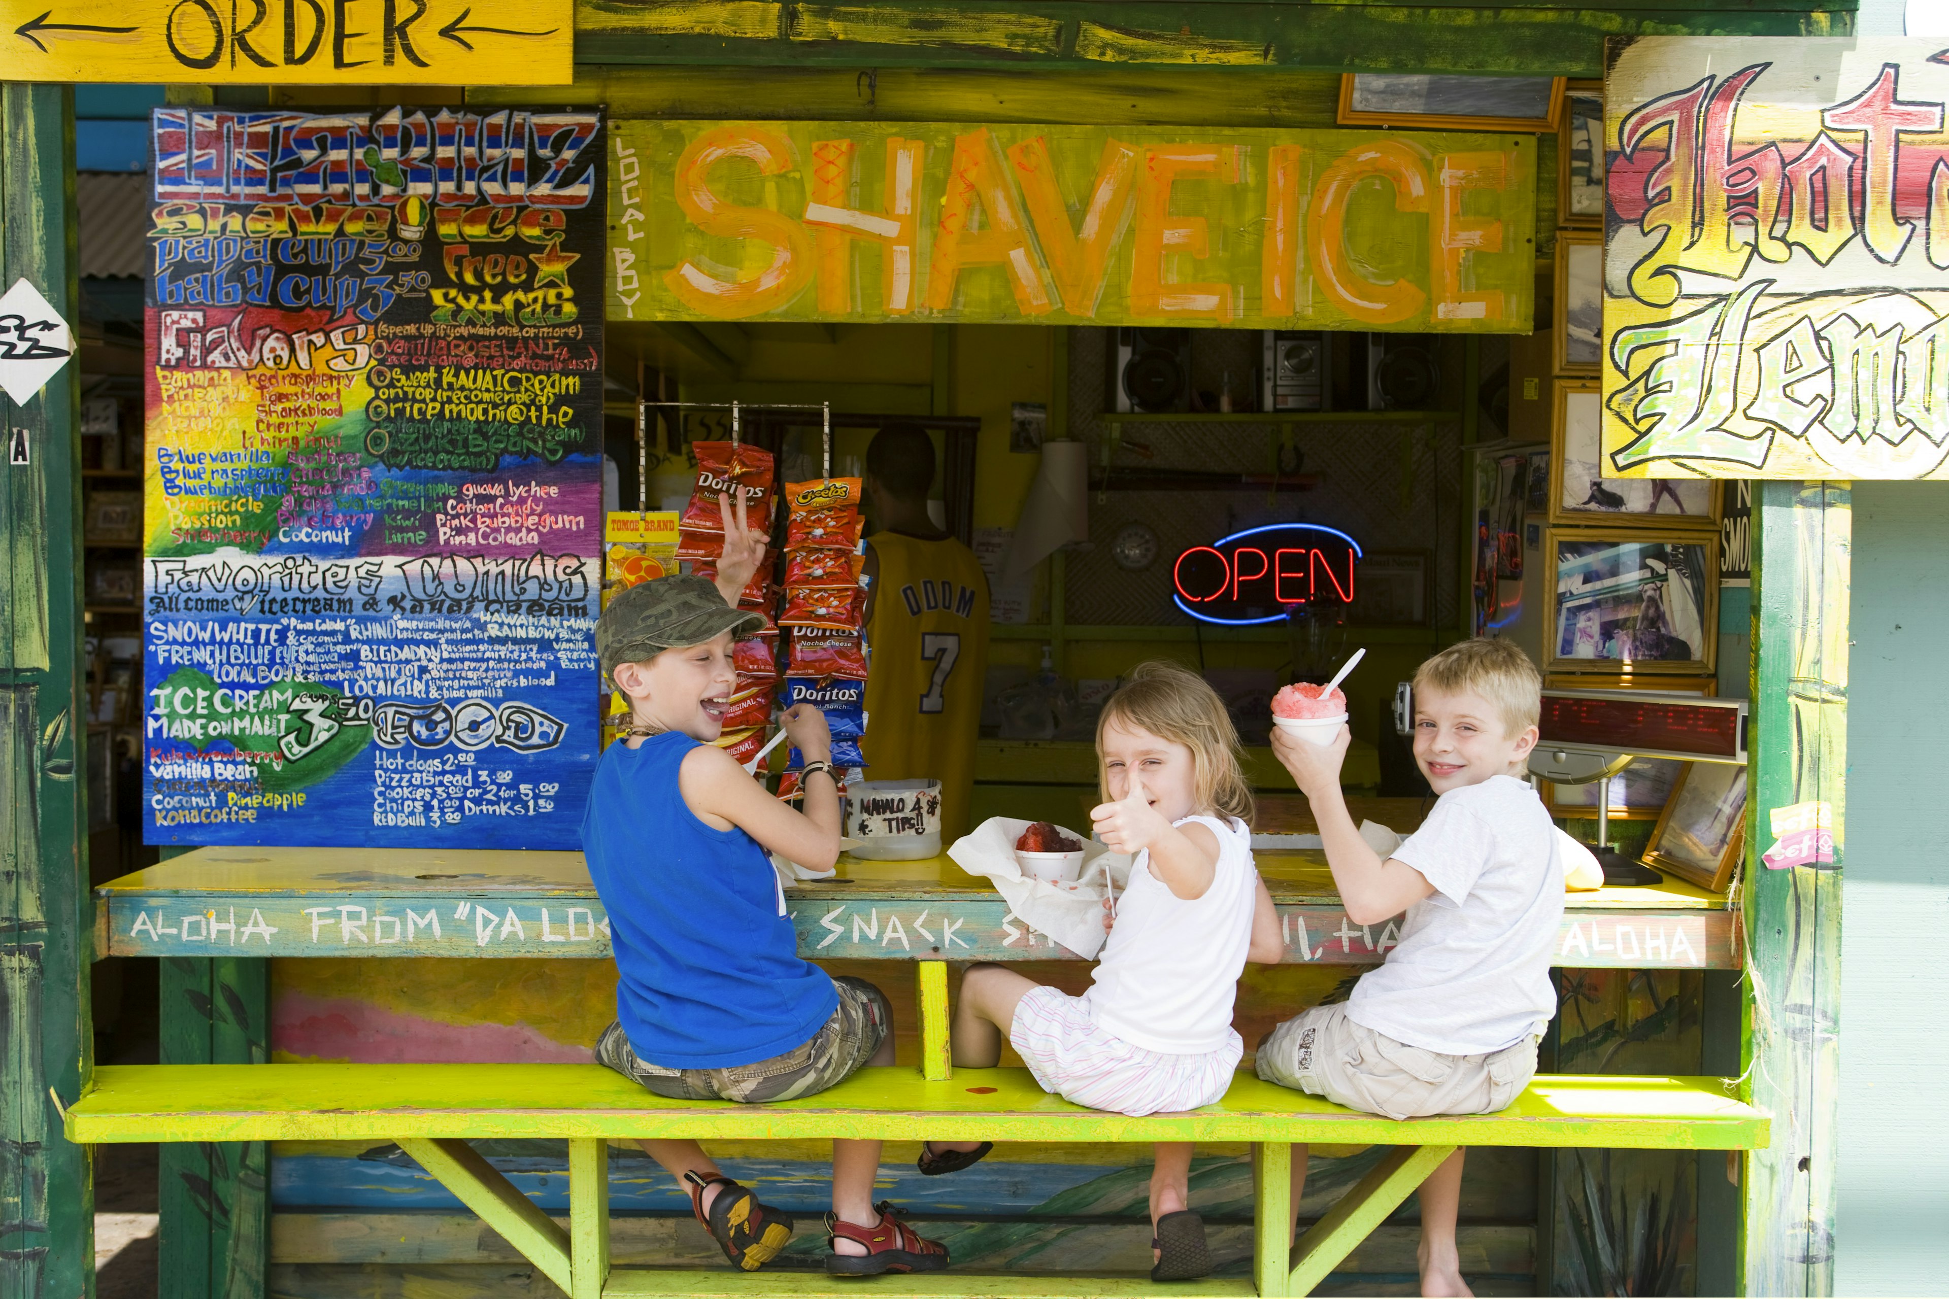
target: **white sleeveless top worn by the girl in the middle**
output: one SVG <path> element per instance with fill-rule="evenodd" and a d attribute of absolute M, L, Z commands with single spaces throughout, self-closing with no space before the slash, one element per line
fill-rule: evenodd
<path fill-rule="evenodd" d="M 1150 872 L 1150 851 L 1138 853 L 1117 898 L 1117 925 L 1103 945 L 1095 984 L 1084 993 L 1089 1019 L 1101 1028 L 1167 1056 L 1216 1052 L 1230 1042 L 1259 884 L 1243 822 L 1187 816 L 1173 824 L 1187 822 L 1218 837 L 1210 888 L 1199 898 L 1179 898 Z"/>

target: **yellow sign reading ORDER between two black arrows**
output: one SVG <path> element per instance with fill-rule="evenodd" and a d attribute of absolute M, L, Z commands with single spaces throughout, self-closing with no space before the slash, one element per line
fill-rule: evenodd
<path fill-rule="evenodd" d="M 573 0 L 0 0 L 0 78 L 567 86 Z"/>

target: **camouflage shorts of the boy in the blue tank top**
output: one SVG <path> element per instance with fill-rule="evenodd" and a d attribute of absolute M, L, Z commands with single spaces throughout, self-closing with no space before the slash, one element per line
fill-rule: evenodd
<path fill-rule="evenodd" d="M 622 1024 L 614 1022 L 596 1040 L 596 1059 L 616 1073 L 670 1100 L 797 1100 L 844 1083 L 873 1058 L 893 1032 L 887 995 L 850 976 L 832 980 L 840 1007 L 811 1036 L 782 1056 L 727 1069 L 665 1069 L 637 1059 Z"/>

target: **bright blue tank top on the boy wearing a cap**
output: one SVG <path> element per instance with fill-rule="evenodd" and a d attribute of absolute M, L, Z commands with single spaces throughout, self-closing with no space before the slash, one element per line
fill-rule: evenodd
<path fill-rule="evenodd" d="M 674 730 L 596 763 L 583 853 L 616 952 L 616 1019 L 667 1069 L 750 1065 L 809 1042 L 838 1009 L 799 956 L 778 876 L 743 830 L 698 820 L 676 769 L 698 740 Z"/>

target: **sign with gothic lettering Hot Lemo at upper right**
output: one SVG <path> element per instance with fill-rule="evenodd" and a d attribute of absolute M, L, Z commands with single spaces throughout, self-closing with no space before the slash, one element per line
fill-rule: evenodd
<path fill-rule="evenodd" d="M 1606 475 L 1949 477 L 1941 49 L 1614 49 Z"/>

